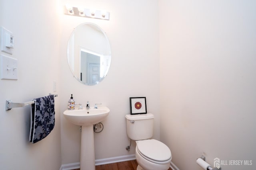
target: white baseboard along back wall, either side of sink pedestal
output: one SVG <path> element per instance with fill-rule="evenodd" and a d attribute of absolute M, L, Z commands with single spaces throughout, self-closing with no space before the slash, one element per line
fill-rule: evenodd
<path fill-rule="evenodd" d="M 135 160 L 135 154 L 124 155 L 124 156 L 116 156 L 112 158 L 104 158 L 95 160 L 95 166 L 104 165 L 104 164 L 112 164 L 116 162 L 124 162 L 128 160 Z M 60 170 L 74 170 L 80 168 L 80 162 L 71 163 L 71 164 L 63 164 L 60 167 Z"/>

